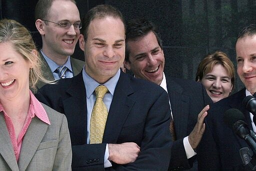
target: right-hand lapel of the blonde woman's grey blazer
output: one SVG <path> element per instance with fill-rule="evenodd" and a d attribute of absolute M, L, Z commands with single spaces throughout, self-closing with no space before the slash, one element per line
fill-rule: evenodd
<path fill-rule="evenodd" d="M 42 122 L 39 118 L 34 116 L 26 130 L 22 140 L 20 149 L 18 165 L 20 170 L 25 170 L 31 158 L 35 154 L 45 132 L 48 124 Z"/>

